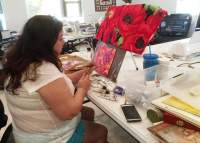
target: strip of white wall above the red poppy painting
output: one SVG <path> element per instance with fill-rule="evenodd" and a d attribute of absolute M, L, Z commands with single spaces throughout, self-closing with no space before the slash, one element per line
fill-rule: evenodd
<path fill-rule="evenodd" d="M 145 3 L 160 6 L 168 11 L 168 13 L 175 13 L 177 0 L 133 0 L 133 3 Z"/>

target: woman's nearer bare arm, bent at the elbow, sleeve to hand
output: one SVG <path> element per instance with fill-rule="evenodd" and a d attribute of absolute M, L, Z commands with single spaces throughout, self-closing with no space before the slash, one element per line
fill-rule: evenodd
<path fill-rule="evenodd" d="M 59 119 L 67 120 L 72 119 L 81 111 L 89 86 L 89 76 L 84 75 L 78 82 L 74 96 L 63 78 L 43 86 L 38 92 Z"/>

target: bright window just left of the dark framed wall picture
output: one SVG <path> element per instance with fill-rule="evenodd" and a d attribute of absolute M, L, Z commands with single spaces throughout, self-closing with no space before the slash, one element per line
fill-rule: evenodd
<path fill-rule="evenodd" d="M 81 0 L 63 0 L 64 16 L 81 17 Z"/>

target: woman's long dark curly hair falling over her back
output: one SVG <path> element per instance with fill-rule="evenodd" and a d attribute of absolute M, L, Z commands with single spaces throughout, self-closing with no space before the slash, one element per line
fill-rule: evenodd
<path fill-rule="evenodd" d="M 36 15 L 27 21 L 21 36 L 5 55 L 3 69 L 9 77 L 7 91 L 16 94 L 22 81 L 36 80 L 37 67 L 43 61 L 53 63 L 62 71 L 61 62 L 54 51 L 62 27 L 60 21 L 47 15 Z"/>

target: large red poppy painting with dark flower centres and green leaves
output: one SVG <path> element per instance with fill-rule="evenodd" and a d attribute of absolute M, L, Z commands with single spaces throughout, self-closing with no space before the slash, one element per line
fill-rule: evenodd
<path fill-rule="evenodd" d="M 112 6 L 96 38 L 116 48 L 142 54 L 167 12 L 146 4 Z"/>

